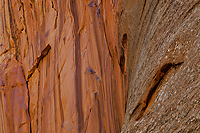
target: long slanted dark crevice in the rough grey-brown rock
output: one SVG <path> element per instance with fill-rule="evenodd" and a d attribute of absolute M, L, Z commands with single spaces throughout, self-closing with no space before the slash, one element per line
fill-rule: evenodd
<path fill-rule="evenodd" d="M 154 100 L 153 96 L 156 94 L 156 91 L 158 90 L 159 85 L 162 83 L 163 78 L 167 75 L 167 73 L 169 72 L 169 70 L 171 70 L 171 68 L 176 69 L 182 63 L 183 62 L 179 62 L 177 64 L 166 63 L 160 68 L 160 70 L 154 76 L 153 81 L 150 84 L 149 88 L 147 89 L 146 93 L 144 93 L 142 99 L 137 104 L 135 109 L 132 111 L 130 119 L 132 119 L 133 116 L 136 116 L 135 120 L 138 121 L 144 116 L 144 113 L 151 106 Z"/>

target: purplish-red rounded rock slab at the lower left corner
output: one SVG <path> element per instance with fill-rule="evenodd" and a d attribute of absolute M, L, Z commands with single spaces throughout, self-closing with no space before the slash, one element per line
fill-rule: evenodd
<path fill-rule="evenodd" d="M 30 132 L 28 89 L 23 68 L 13 58 L 4 61 L 0 69 L 1 132 Z"/>

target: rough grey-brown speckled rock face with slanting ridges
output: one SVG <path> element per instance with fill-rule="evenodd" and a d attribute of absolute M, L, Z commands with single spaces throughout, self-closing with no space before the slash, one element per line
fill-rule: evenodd
<path fill-rule="evenodd" d="M 200 132 L 200 1 L 127 0 L 121 11 L 119 34 L 129 37 L 122 132 Z"/>

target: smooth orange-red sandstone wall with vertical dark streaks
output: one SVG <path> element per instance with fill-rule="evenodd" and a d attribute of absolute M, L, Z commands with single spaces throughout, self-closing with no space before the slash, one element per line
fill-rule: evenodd
<path fill-rule="evenodd" d="M 1 132 L 119 132 L 119 1 L 0 3 Z"/>

